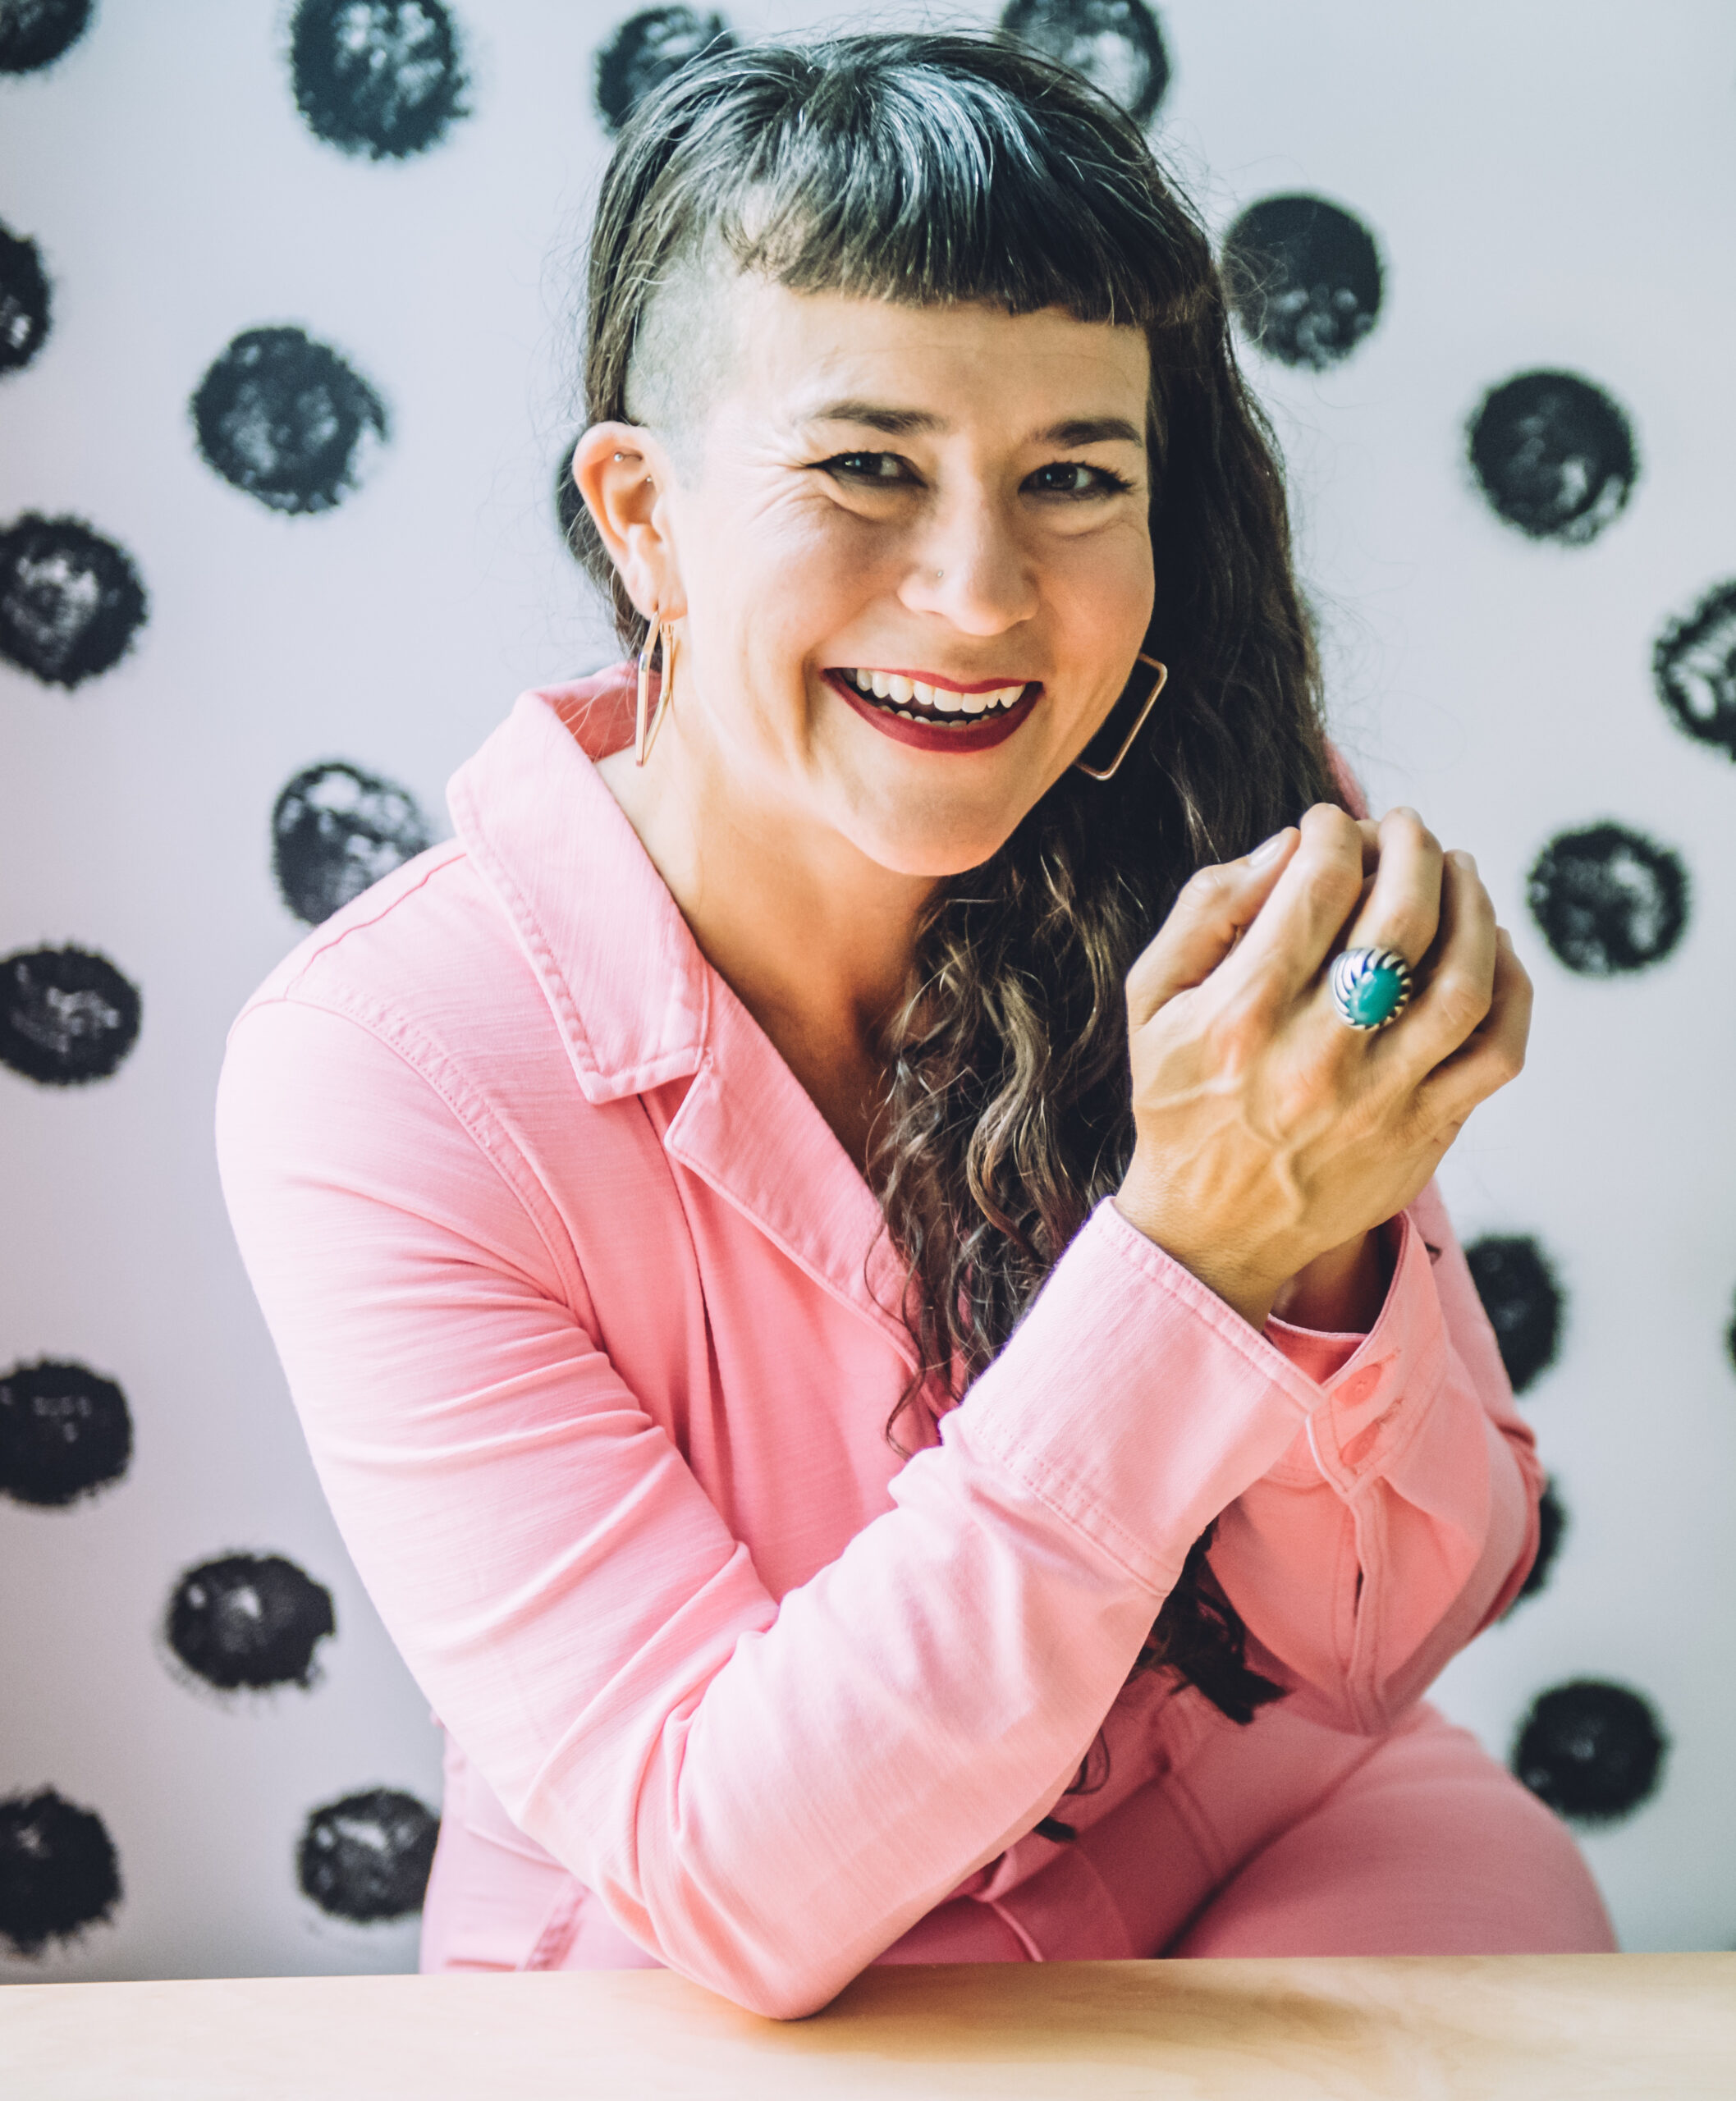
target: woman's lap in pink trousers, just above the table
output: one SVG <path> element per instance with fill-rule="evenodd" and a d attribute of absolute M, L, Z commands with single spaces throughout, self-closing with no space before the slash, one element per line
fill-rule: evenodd
<path fill-rule="evenodd" d="M 1238 1729 L 1190 1700 L 1192 1727 L 1169 1773 L 1087 1838 L 1124 1946 L 1068 1931 L 1070 1908 L 1042 1885 L 1076 1878 L 1082 1864 L 1057 1857 L 998 1906 L 942 1906 L 883 1960 L 1614 1948 L 1572 1832 L 1435 1708 L 1356 1738 L 1288 1706 Z"/>

